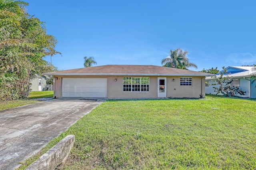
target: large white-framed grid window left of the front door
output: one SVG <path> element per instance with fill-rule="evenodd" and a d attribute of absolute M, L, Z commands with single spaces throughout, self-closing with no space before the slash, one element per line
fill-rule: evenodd
<path fill-rule="evenodd" d="M 124 77 L 124 92 L 149 92 L 149 77 Z"/>

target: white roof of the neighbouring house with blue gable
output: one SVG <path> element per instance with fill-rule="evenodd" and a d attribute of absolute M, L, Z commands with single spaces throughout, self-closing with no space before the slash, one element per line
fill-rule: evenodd
<path fill-rule="evenodd" d="M 228 66 L 226 69 L 229 70 L 230 68 L 237 69 L 237 71 L 232 71 L 231 74 L 228 74 L 228 76 L 232 78 L 250 77 L 256 73 L 256 67 L 254 66 Z M 217 75 L 217 76 L 220 76 L 220 75 Z M 206 80 L 211 80 L 211 79 L 214 79 L 214 78 L 206 77 Z"/>

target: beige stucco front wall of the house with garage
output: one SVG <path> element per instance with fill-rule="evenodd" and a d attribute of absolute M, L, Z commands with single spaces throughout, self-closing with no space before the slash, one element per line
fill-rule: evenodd
<path fill-rule="evenodd" d="M 56 77 L 58 77 L 58 79 Z M 162 77 L 162 76 L 147 76 L 150 78 L 149 92 L 123 92 L 123 77 L 132 77 L 132 76 L 55 76 L 54 96 L 56 96 L 56 98 L 62 97 L 62 78 L 107 78 L 108 79 L 108 82 L 107 82 L 108 98 L 157 98 L 158 97 L 158 77 Z M 144 76 L 138 76 L 138 77 L 144 77 Z M 199 98 L 201 93 L 205 97 L 204 76 L 192 77 L 192 86 L 180 86 L 181 76 L 163 76 L 163 77 L 167 78 L 166 97 L 168 98 Z M 188 77 L 188 76 L 182 76 L 182 77 Z M 175 79 L 175 81 L 173 81 L 173 79 Z"/>

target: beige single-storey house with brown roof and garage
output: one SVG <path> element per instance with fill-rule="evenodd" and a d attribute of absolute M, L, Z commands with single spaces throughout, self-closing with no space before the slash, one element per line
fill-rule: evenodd
<path fill-rule="evenodd" d="M 205 72 L 153 65 L 103 65 L 48 72 L 54 97 L 200 98 Z"/>

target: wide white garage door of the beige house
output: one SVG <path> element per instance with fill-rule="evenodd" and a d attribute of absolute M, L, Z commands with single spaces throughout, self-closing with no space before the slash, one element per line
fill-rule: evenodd
<path fill-rule="evenodd" d="M 62 97 L 107 97 L 107 78 L 63 78 Z"/>

